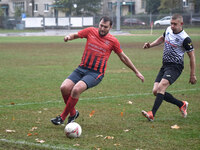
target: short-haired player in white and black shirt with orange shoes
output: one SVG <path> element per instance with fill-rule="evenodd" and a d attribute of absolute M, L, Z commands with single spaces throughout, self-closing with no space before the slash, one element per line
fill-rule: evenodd
<path fill-rule="evenodd" d="M 164 34 L 152 43 L 145 43 L 144 49 L 151 48 L 164 43 L 163 65 L 156 77 L 153 94 L 156 96 L 153 108 L 151 111 L 142 111 L 142 114 L 149 120 L 153 121 L 155 114 L 165 100 L 169 103 L 177 105 L 182 116 L 187 117 L 187 101 L 180 101 L 166 92 L 166 89 L 173 84 L 181 75 L 184 68 L 184 53 L 186 52 L 190 59 L 190 79 L 189 83 L 195 84 L 197 82 L 195 75 L 195 53 L 192 41 L 188 34 L 183 30 L 183 17 L 175 14 L 171 19 L 171 26 L 169 26 Z"/>

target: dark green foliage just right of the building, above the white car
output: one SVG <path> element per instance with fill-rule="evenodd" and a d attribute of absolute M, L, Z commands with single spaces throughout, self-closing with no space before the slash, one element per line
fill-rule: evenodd
<path fill-rule="evenodd" d="M 159 12 L 160 0 L 146 0 L 146 12 L 156 14 Z"/>

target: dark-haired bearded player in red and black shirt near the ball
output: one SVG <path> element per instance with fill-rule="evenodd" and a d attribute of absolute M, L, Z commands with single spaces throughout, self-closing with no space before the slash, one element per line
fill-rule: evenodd
<path fill-rule="evenodd" d="M 61 93 L 66 106 L 61 115 L 51 119 L 53 124 L 63 124 L 68 114 L 70 114 L 68 123 L 73 122 L 79 116 L 79 112 L 75 110 L 75 105 L 80 94 L 102 81 L 112 51 L 144 82 L 143 75 L 122 51 L 119 41 L 109 33 L 111 27 L 112 20 L 108 17 L 102 17 L 98 28 L 89 27 L 78 33 L 65 36 L 65 42 L 77 38 L 86 38 L 87 42 L 80 65 L 61 85 Z"/>

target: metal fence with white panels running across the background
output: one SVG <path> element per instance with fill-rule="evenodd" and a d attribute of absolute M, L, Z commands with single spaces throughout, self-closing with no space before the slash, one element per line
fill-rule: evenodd
<path fill-rule="evenodd" d="M 120 27 L 122 29 L 149 29 L 150 26 L 154 28 L 163 28 L 170 25 L 171 14 L 140 14 L 120 17 Z M 182 14 L 185 26 L 200 27 L 200 14 Z M 28 29 L 28 28 L 84 28 L 88 26 L 98 26 L 99 20 L 102 16 L 75 16 L 62 18 L 5 18 L 0 17 L 0 28 L 3 29 Z M 113 28 L 116 28 L 116 16 L 110 16 L 113 20 Z M 166 18 L 165 18 L 166 17 Z"/>

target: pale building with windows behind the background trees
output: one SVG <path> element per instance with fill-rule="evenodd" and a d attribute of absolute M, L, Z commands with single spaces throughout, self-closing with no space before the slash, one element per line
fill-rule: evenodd
<path fill-rule="evenodd" d="M 0 0 L 0 9 L 4 16 L 14 17 L 16 11 L 27 17 L 65 17 L 66 14 L 58 11 L 55 3 L 59 0 Z M 117 0 L 102 0 L 102 15 L 116 15 Z M 121 16 L 131 16 L 145 14 L 146 0 L 120 0 Z M 191 0 L 183 0 L 183 10 L 185 12 L 194 11 L 194 3 Z"/>

